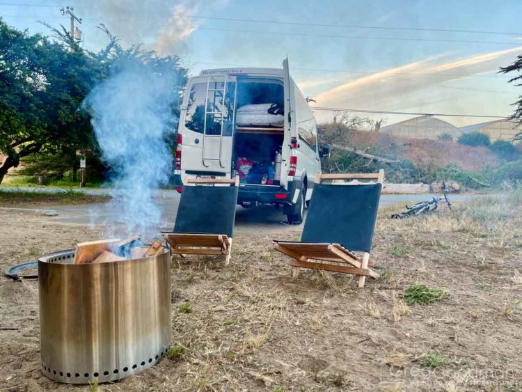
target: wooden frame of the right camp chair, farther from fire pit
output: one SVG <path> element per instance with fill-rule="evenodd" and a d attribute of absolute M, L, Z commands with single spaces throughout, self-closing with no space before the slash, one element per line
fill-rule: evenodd
<path fill-rule="evenodd" d="M 384 171 L 381 169 L 379 173 L 317 173 L 315 183 L 320 184 L 323 180 L 374 180 L 382 184 L 384 182 Z M 342 184 L 335 185 L 342 186 Z M 358 275 L 359 288 L 364 287 L 366 276 L 370 276 L 373 279 L 379 278 L 379 274 L 369 268 L 374 266 L 374 262 L 370 260 L 369 252 L 364 252 L 361 259 L 356 256 L 356 253 L 340 244 L 307 242 L 276 242 L 274 248 L 293 259 L 289 262 L 292 267 L 292 279 L 299 274 L 300 268 L 324 269 L 331 272 Z"/>

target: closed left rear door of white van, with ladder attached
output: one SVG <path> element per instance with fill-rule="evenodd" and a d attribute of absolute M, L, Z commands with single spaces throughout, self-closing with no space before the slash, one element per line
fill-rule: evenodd
<path fill-rule="evenodd" d="M 183 171 L 230 177 L 236 94 L 235 77 L 193 78 L 180 124 Z"/>

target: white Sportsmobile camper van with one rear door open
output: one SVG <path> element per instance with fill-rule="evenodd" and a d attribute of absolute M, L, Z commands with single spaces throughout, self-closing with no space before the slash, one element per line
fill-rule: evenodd
<path fill-rule="evenodd" d="M 290 224 L 301 223 L 329 146 L 319 150 L 315 118 L 287 60 L 283 69 L 203 70 L 191 77 L 177 132 L 178 191 L 185 178 L 239 175 L 240 205 L 282 205 Z"/>

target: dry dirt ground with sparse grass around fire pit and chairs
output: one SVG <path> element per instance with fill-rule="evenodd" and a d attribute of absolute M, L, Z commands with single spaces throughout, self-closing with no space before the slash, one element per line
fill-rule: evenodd
<path fill-rule="evenodd" d="M 270 237 L 237 235 L 232 261 L 173 258 L 171 357 L 100 391 L 520 391 L 522 197 L 480 198 L 403 221 L 381 211 L 363 290 L 343 274 L 293 281 Z M 395 206 L 395 209 L 397 207 Z M 0 269 L 100 230 L 0 212 Z M 413 283 L 441 301 L 407 305 Z M 191 312 L 180 311 L 186 302 Z M 88 391 L 40 371 L 37 281 L 0 279 L 0 390 Z M 444 359 L 430 368 L 426 354 Z M 93 388 L 95 389 L 95 388 Z"/>

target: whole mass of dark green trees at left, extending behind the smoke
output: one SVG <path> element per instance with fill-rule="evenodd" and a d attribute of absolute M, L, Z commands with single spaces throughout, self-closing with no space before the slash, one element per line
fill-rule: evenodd
<path fill-rule="evenodd" d="M 140 45 L 124 49 L 103 25 L 109 43 L 97 53 L 81 49 L 63 26 L 48 27 L 56 40 L 13 29 L 0 18 L 0 152 L 6 156 L 0 184 L 29 155 L 74 157 L 79 148 L 97 150 L 82 102 L 120 61 L 139 59 L 157 73 L 174 73 L 177 97 L 187 82 L 179 57 L 160 57 Z M 173 111 L 179 107 L 178 99 Z"/>

